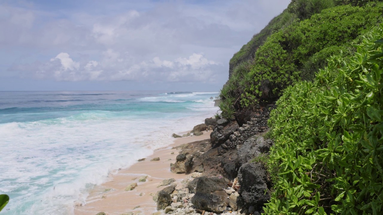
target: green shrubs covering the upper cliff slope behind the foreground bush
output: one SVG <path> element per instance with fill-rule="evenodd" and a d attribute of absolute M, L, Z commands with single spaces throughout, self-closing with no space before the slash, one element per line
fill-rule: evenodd
<path fill-rule="evenodd" d="M 303 12 L 300 15 L 300 10 L 296 8 L 302 2 L 305 3 L 301 6 L 305 15 Z M 285 22 L 288 24 L 283 27 L 279 26 L 262 46 L 257 47 L 250 61 L 238 60 L 241 59 L 238 57 L 241 52 L 247 49 L 242 48 L 234 55 L 232 60 L 237 66 L 221 90 L 223 113 L 226 110 L 235 113 L 237 110 L 251 109 L 260 101 L 275 101 L 286 87 L 297 81 L 313 80 L 315 72 L 327 65 L 329 56 L 339 53 L 339 50 L 344 55 L 352 54 L 354 49 L 349 44 L 360 42 L 368 29 L 383 20 L 383 3 L 367 3 L 363 7 L 333 7 L 339 2 L 291 2 L 282 15 L 289 16 L 290 20 L 296 17 L 306 20 L 296 19 Z"/>

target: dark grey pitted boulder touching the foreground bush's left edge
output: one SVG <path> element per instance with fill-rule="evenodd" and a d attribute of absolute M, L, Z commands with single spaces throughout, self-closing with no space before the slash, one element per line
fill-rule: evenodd
<path fill-rule="evenodd" d="M 238 193 L 244 202 L 262 209 L 270 199 L 270 181 L 264 166 L 260 163 L 245 163 L 239 168 L 238 181 L 241 184 Z"/>

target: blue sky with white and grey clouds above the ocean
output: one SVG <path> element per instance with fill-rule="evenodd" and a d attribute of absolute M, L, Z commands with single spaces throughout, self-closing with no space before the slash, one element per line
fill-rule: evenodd
<path fill-rule="evenodd" d="M 218 91 L 289 0 L 0 0 L 0 91 Z"/>

